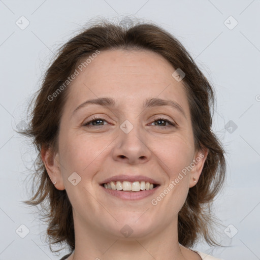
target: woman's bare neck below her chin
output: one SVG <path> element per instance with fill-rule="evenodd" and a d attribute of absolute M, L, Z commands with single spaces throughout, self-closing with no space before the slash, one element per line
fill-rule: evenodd
<path fill-rule="evenodd" d="M 82 228 L 84 227 L 84 228 Z M 162 225 L 163 227 L 163 225 Z M 183 247 L 178 242 L 177 219 L 163 230 L 145 236 L 128 238 L 111 236 L 96 227 L 74 222 L 75 250 L 69 260 L 184 260 Z"/>

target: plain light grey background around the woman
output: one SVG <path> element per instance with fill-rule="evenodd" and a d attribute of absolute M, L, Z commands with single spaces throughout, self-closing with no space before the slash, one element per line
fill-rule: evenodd
<path fill-rule="evenodd" d="M 39 235 L 46 226 L 20 202 L 28 199 L 24 178 L 34 152 L 13 129 L 26 123 L 26 105 L 57 47 L 96 16 L 137 17 L 163 26 L 214 85 L 213 130 L 228 153 L 227 183 L 214 208 L 223 224 L 218 241 L 228 247 L 200 243 L 196 249 L 225 260 L 260 259 L 259 13 L 259 0 L 0 1 L 0 259 L 59 259 L 67 253 L 49 251 Z M 25 25 L 21 16 L 29 21 L 23 30 L 16 25 Z M 238 22 L 234 28 L 230 16 Z M 233 133 L 230 120 L 237 125 Z M 16 233 L 21 224 L 29 229 L 25 238 Z M 235 228 L 225 230 L 230 224 Z"/>

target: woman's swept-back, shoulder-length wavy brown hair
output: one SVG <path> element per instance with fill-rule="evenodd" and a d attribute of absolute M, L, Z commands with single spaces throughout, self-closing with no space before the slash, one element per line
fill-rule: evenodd
<path fill-rule="evenodd" d="M 69 84 L 52 101 L 48 97 L 66 82 L 82 60 L 96 50 L 118 48 L 151 50 L 168 60 L 173 68 L 179 68 L 185 73 L 182 82 L 189 103 L 194 146 L 196 150 L 206 147 L 208 156 L 198 183 L 189 189 L 179 212 L 179 243 L 191 247 L 200 237 L 204 237 L 208 244 L 217 245 L 211 232 L 216 221 L 213 221 L 210 206 L 223 186 L 226 163 L 221 143 L 211 131 L 210 109 L 214 105 L 214 90 L 182 44 L 153 23 L 137 22 L 129 26 L 102 21 L 84 29 L 58 50 L 44 76 L 41 88 L 35 93 L 29 126 L 25 131 L 19 132 L 32 138 L 38 150 L 33 176 L 34 181 L 38 177 L 40 183 L 37 183 L 37 191 L 33 197 L 24 203 L 44 207 L 43 203 L 47 200 L 47 212 L 42 215 L 48 223 L 50 249 L 52 244 L 65 242 L 74 250 L 72 205 L 66 190 L 58 190 L 52 184 L 40 155 L 42 148 L 50 147 L 53 152 L 57 150 L 60 117 L 67 100 Z"/>

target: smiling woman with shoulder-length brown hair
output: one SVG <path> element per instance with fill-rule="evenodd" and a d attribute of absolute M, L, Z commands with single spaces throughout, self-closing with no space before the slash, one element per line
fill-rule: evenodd
<path fill-rule="evenodd" d="M 154 24 L 97 23 L 67 42 L 36 93 L 29 128 L 62 259 L 217 259 L 210 205 L 225 178 L 214 92 Z"/>

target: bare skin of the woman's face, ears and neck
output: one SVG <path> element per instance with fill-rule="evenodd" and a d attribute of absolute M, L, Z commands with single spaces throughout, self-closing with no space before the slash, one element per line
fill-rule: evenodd
<path fill-rule="evenodd" d="M 57 189 L 66 189 L 73 207 L 76 246 L 69 260 L 201 259 L 179 244 L 177 216 L 208 151 L 194 149 L 187 96 L 182 81 L 172 77 L 174 71 L 166 59 L 148 50 L 106 50 L 70 85 L 58 151 L 41 152 L 50 179 L 57 182 Z M 115 99 L 114 108 L 90 105 L 72 115 L 86 100 L 105 96 Z M 148 98 L 175 101 L 186 117 L 169 106 L 144 109 Z M 169 124 L 156 121 L 155 115 L 177 126 L 163 128 Z M 105 121 L 84 126 L 93 116 Z M 134 126 L 128 134 L 119 127 L 125 120 Z M 153 206 L 151 199 L 200 154 L 204 158 Z M 123 201 L 103 191 L 99 184 L 123 171 L 151 177 L 161 185 L 155 195 L 140 201 Z M 73 172 L 81 177 L 76 186 L 68 180 Z M 120 233 L 125 224 L 133 230 L 127 238 Z"/>

